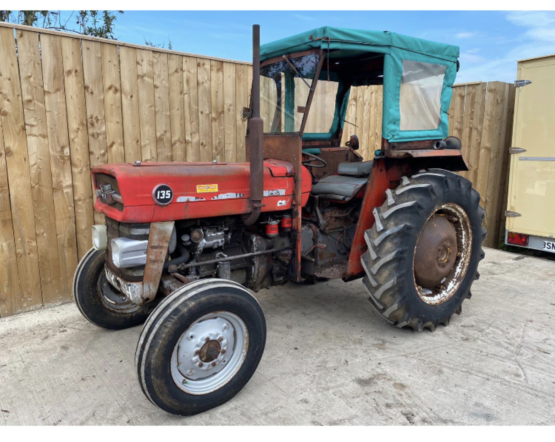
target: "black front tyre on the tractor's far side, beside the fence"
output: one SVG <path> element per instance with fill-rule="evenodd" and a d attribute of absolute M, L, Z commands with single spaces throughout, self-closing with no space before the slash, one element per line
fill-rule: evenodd
<path fill-rule="evenodd" d="M 106 251 L 91 248 L 77 265 L 73 297 L 79 311 L 95 326 L 120 330 L 142 324 L 147 306 L 137 306 L 108 282 L 104 273 Z"/>

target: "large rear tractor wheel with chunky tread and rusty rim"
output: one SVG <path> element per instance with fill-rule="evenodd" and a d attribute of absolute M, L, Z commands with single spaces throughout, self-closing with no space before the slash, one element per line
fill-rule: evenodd
<path fill-rule="evenodd" d="M 480 276 L 486 238 L 480 195 L 442 169 L 403 176 L 386 194 L 361 256 L 370 303 L 397 327 L 447 326 Z"/>

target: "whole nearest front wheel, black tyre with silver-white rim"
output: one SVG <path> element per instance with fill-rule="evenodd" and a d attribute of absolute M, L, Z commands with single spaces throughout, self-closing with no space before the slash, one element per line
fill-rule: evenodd
<path fill-rule="evenodd" d="M 215 278 L 191 282 L 144 324 L 135 352 L 139 384 L 168 413 L 201 413 L 240 392 L 265 343 L 264 313 L 246 288 Z"/>

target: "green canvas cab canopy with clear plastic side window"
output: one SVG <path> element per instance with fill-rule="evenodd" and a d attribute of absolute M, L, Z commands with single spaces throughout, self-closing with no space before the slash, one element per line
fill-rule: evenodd
<path fill-rule="evenodd" d="M 442 139 L 448 135 L 447 110 L 458 67 L 458 46 L 407 37 L 388 31 L 362 31 L 321 27 L 261 45 L 261 62 L 286 54 L 322 49 L 328 57 L 319 79 L 330 78 L 330 70 L 342 63 L 353 64 L 349 75 L 335 77 L 349 86 L 383 84 L 382 136 L 390 142 Z M 357 64 L 371 58 L 383 60 L 382 72 L 364 75 Z M 329 68 L 329 65 L 332 68 Z M 381 66 L 381 65 L 380 65 Z M 332 72 L 333 75 L 333 72 Z M 341 90 L 341 87 L 339 88 Z M 335 132 L 343 127 L 349 92 L 337 99 Z M 330 129 L 329 136 L 334 133 Z M 322 138 L 322 134 L 303 134 Z"/>

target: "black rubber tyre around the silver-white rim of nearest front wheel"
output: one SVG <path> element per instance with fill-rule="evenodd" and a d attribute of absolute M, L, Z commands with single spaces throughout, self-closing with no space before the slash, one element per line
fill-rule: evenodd
<path fill-rule="evenodd" d="M 186 387 L 180 388 L 175 382 L 171 358 L 192 324 L 218 312 L 236 315 L 246 326 L 248 346 L 243 362 L 217 389 L 188 393 Z M 240 392 L 258 367 L 265 343 L 264 312 L 246 288 L 215 278 L 195 281 L 166 297 L 144 324 L 135 352 L 139 384 L 150 402 L 168 413 L 182 416 L 201 413 L 218 407 Z"/>

